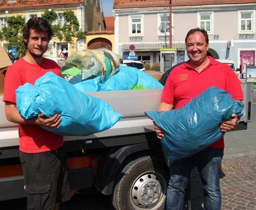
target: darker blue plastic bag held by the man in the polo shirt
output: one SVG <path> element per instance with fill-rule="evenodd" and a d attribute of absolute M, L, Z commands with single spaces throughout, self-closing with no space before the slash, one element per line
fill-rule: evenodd
<path fill-rule="evenodd" d="M 244 114 L 242 103 L 216 87 L 206 89 L 180 109 L 145 113 L 165 132 L 161 145 L 168 166 L 206 149 L 223 137 L 220 124 L 230 119 L 232 113 Z"/>

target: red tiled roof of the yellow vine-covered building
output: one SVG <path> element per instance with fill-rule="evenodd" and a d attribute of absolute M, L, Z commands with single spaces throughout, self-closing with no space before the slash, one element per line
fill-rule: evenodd
<path fill-rule="evenodd" d="M 16 2 L 8 2 L 8 0 L 0 1 L 0 9 L 15 9 L 15 8 L 27 8 L 37 6 L 57 6 L 57 5 L 72 5 L 83 4 L 84 0 L 16 0 Z"/>

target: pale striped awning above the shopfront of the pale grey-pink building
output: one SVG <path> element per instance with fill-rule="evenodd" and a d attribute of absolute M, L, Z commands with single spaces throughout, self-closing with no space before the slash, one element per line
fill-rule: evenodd
<path fill-rule="evenodd" d="M 122 51 L 130 51 L 129 47 L 131 44 L 123 44 Z M 169 48 L 169 44 L 153 43 L 153 44 L 133 44 L 135 46 L 135 52 L 141 51 L 160 51 L 160 48 Z M 172 48 L 177 50 L 185 50 L 185 42 L 172 43 Z"/>

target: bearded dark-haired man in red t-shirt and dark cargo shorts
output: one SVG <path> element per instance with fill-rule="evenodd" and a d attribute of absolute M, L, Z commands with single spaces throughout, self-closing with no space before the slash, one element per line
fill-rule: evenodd
<path fill-rule="evenodd" d="M 53 36 L 48 22 L 43 18 L 31 18 L 22 33 L 26 55 L 8 68 L 4 80 L 6 118 L 18 123 L 27 209 L 55 210 L 60 202 L 70 199 L 66 152 L 62 147 L 63 137 L 40 126 L 58 129 L 61 116 L 56 113 L 47 119 L 40 113 L 34 119 L 24 119 L 16 108 L 15 90 L 25 83 L 34 85 L 36 79 L 48 71 L 59 76 L 61 73 L 57 63 L 43 57 Z"/>

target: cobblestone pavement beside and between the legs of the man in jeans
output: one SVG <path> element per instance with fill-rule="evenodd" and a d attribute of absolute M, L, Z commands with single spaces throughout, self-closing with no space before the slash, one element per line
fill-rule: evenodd
<path fill-rule="evenodd" d="M 224 155 L 222 160 L 222 210 L 256 210 L 256 152 Z M 202 183 L 196 169 L 191 174 L 192 210 L 203 209 Z"/>

